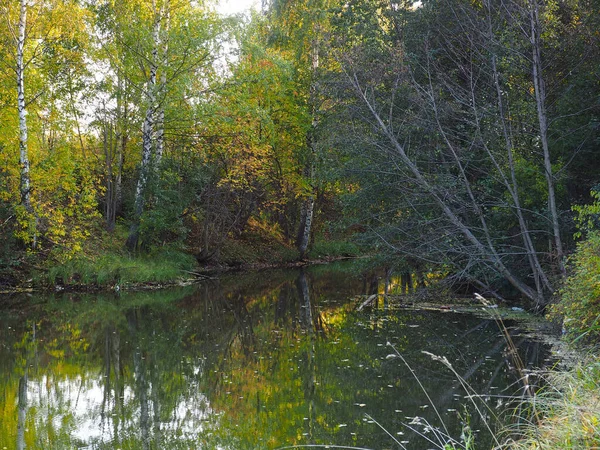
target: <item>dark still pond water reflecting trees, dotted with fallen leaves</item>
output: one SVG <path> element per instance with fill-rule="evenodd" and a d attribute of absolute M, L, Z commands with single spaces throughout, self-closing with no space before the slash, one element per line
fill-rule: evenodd
<path fill-rule="evenodd" d="M 321 269 L 4 299 L 0 449 L 429 449 L 448 436 L 459 448 L 465 422 L 490 448 L 456 376 L 422 351 L 446 356 L 480 410 L 501 414 L 521 387 L 494 321 L 382 302 L 357 312 L 365 289 Z M 543 364 L 548 348 L 515 341 Z"/>

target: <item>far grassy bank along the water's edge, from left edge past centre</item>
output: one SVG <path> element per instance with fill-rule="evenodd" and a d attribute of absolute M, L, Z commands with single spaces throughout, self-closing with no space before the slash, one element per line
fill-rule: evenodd
<path fill-rule="evenodd" d="M 76 256 L 57 261 L 44 255 L 16 254 L 0 268 L 0 293 L 157 289 L 231 271 L 301 267 L 358 257 L 343 241 L 317 241 L 303 260 L 296 249 L 258 233 L 228 239 L 208 258 L 183 244 L 132 254 L 123 245 L 127 230 L 99 231 Z"/>

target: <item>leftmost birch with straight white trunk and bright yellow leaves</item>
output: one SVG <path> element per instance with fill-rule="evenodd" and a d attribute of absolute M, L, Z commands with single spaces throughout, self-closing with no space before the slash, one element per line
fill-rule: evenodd
<path fill-rule="evenodd" d="M 85 10 L 72 2 L 6 2 L 2 8 L 7 34 L 2 35 L 0 77 L 16 81 L 14 93 L 4 91 L 3 99 L 17 120 L 8 121 L 0 140 L 3 147 L 19 148 L 3 154 L 3 170 L 19 179 L 18 188 L 13 184 L 6 192 L 18 204 L 16 233 L 32 250 L 72 255 L 87 233 L 83 221 L 94 217 L 95 208 L 88 171 L 93 168 L 82 164 L 85 149 L 72 146 L 70 132 L 86 77 Z M 67 148 L 73 150 L 68 157 Z"/>

